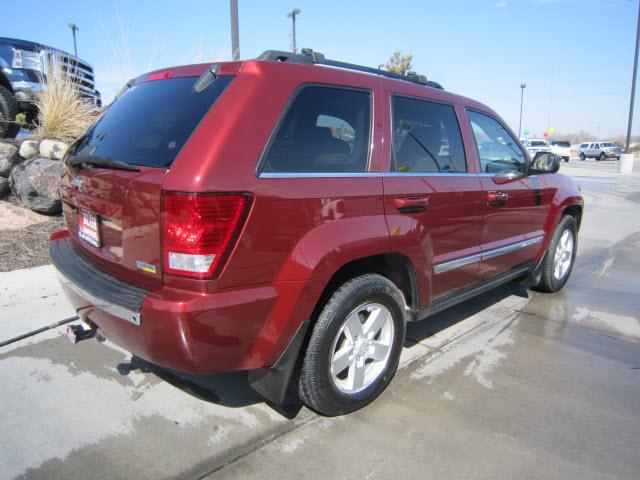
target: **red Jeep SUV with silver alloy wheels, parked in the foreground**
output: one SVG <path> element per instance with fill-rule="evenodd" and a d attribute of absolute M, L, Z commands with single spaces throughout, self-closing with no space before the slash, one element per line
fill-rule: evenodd
<path fill-rule="evenodd" d="M 511 280 L 562 288 L 583 200 L 558 167 L 419 75 L 312 51 L 175 67 L 71 146 L 51 257 L 136 356 L 339 415 L 387 386 L 406 322 Z"/>

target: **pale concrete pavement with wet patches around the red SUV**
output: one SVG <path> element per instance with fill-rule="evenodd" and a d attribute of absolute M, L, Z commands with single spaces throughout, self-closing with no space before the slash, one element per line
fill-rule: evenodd
<path fill-rule="evenodd" d="M 0 348 L 0 478 L 638 478 L 634 170 L 563 163 L 586 203 L 565 289 L 507 285 L 410 325 L 396 379 L 345 417 L 62 328 Z M 0 340 L 73 314 L 50 266 L 0 273 L 0 309 Z"/>

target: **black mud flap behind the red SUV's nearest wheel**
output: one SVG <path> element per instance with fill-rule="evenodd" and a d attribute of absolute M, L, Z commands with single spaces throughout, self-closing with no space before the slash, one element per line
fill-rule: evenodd
<path fill-rule="evenodd" d="M 249 371 L 251 388 L 267 400 L 277 404 L 282 404 L 284 401 L 308 328 L 308 320 L 300 324 L 289 345 L 273 366 Z"/>

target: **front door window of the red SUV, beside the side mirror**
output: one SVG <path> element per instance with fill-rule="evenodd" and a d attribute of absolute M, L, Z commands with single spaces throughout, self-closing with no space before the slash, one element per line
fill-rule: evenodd
<path fill-rule="evenodd" d="M 468 111 L 468 114 L 478 145 L 482 171 L 524 172 L 524 152 L 509 132 L 488 115 L 474 111 Z"/>

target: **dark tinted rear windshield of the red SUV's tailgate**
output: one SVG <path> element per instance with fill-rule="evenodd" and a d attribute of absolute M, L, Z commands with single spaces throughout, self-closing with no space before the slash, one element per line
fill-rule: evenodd
<path fill-rule="evenodd" d="M 201 92 L 193 90 L 197 77 L 134 85 L 107 108 L 70 154 L 169 167 L 231 79 L 219 77 Z"/>

